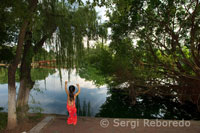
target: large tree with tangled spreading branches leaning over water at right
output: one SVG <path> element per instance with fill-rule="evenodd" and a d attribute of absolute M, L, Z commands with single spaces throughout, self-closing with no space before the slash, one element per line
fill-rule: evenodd
<path fill-rule="evenodd" d="M 199 1 L 112 2 L 115 4 L 110 14 L 112 39 L 116 42 L 128 36 L 133 40 L 139 40 L 135 43 L 135 49 L 142 48 L 143 52 L 154 60 L 151 59 L 152 62 L 149 62 L 150 58 L 146 56 L 146 59 L 141 59 L 141 63 L 135 66 L 140 67 L 143 64 L 149 71 L 155 71 L 160 75 L 159 78 L 149 77 L 143 85 L 139 84 L 140 87 L 145 85 L 144 92 L 152 92 L 150 90 L 154 88 L 156 94 L 174 95 L 175 91 L 182 102 L 189 100 L 198 105 Z"/>

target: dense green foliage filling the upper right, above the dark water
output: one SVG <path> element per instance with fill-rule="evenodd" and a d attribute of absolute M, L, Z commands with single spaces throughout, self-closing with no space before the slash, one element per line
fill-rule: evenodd
<path fill-rule="evenodd" d="M 115 54 L 115 66 L 119 67 L 115 71 L 123 71 L 116 77 L 126 75 L 118 78 L 119 81 L 168 86 L 175 81 L 186 85 L 187 78 L 199 79 L 197 1 L 115 0 L 111 3 L 115 7 L 111 4 L 112 12 L 107 14 L 112 29 L 110 48 Z M 129 43 L 132 48 L 127 47 Z"/>

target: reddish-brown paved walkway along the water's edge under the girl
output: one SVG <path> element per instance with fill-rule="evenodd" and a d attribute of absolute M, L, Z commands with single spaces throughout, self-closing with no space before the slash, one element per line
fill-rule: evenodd
<path fill-rule="evenodd" d="M 40 133 L 200 133 L 200 121 L 78 117 L 74 126 L 66 120 L 56 116 Z"/>

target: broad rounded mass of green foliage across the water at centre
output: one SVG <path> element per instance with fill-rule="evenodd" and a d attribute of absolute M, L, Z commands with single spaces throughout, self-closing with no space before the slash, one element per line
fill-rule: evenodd
<path fill-rule="evenodd" d="M 109 47 L 97 43 L 84 57 L 79 74 L 96 85 L 110 86 L 133 81 L 136 85 L 145 85 L 148 80 L 164 78 L 157 73 L 159 67 L 145 67 L 147 63 L 154 63 L 151 53 L 145 52 L 142 45 L 134 48 L 130 38 L 126 38 L 113 41 Z"/>

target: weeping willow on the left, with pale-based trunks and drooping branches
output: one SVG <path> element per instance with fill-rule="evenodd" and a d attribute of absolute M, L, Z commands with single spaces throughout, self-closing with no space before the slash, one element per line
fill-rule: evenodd
<path fill-rule="evenodd" d="M 83 55 L 83 37 L 90 35 L 92 39 L 97 34 L 98 21 L 94 8 L 84 6 L 80 1 L 70 2 L 17 0 L 9 2 L 5 10 L 1 10 L 11 14 L 12 24 L 16 23 L 16 30 L 13 31 L 16 54 L 8 68 L 8 129 L 16 127 L 16 117 L 23 120 L 28 112 L 29 93 L 34 85 L 31 79 L 34 55 L 46 44 L 56 53 L 58 64 L 75 68 Z M 15 73 L 19 63 L 20 87 L 16 102 Z"/>

